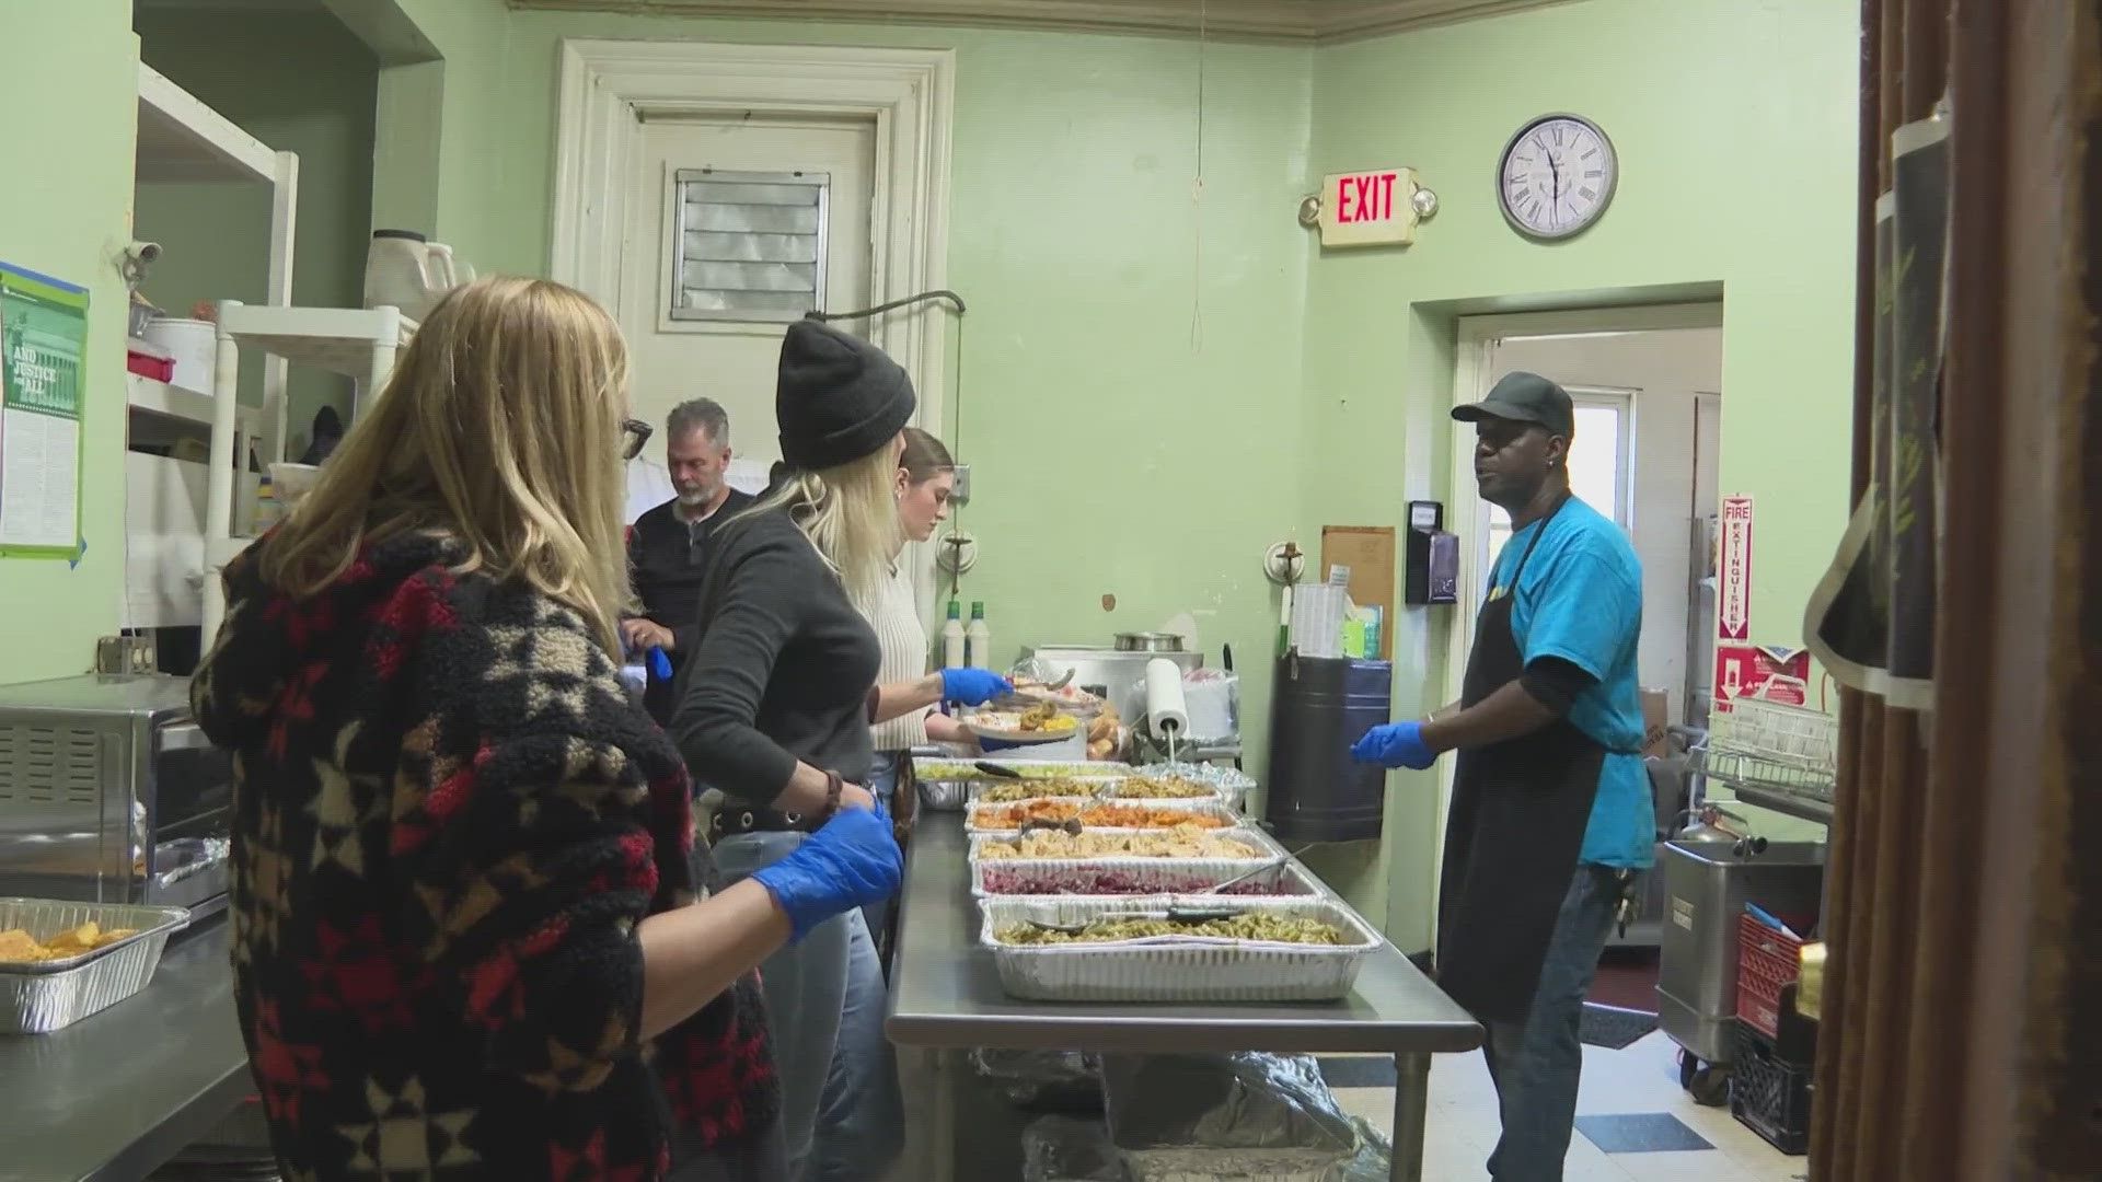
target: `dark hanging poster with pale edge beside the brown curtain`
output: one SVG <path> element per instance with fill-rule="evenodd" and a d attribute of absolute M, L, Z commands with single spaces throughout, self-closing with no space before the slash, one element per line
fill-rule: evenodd
<path fill-rule="evenodd" d="M 1841 686 L 1902 709 L 1934 705 L 1949 130 L 1936 114 L 1892 133 L 1892 189 L 1875 204 L 1869 488 L 1804 616 Z"/>

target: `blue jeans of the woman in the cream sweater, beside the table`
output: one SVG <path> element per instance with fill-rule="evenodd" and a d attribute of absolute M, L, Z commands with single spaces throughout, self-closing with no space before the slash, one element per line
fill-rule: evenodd
<path fill-rule="evenodd" d="M 904 1096 L 898 1089 L 898 1052 L 883 1033 L 889 1010 L 877 942 L 849 911 L 847 1003 L 839 1016 L 839 1043 L 818 1102 L 818 1140 L 809 1182 L 877 1182 L 904 1150 Z"/>

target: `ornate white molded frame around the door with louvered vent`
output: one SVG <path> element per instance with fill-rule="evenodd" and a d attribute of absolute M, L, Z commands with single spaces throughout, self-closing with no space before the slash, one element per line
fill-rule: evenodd
<path fill-rule="evenodd" d="M 877 128 L 870 303 L 946 288 L 954 107 L 956 55 L 946 48 L 563 38 L 549 273 L 620 307 L 626 198 L 641 162 L 643 116 L 834 116 L 872 120 Z M 868 339 L 912 374 L 914 421 L 935 433 L 948 421 L 948 322 L 942 303 L 866 322 Z M 931 562 L 914 568 L 927 606 Z"/>

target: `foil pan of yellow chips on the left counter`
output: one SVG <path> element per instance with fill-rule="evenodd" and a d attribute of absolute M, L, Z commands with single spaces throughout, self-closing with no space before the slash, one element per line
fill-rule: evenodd
<path fill-rule="evenodd" d="M 189 923 L 181 906 L 0 898 L 0 932 L 21 928 L 38 940 L 99 923 L 135 928 L 114 944 L 63 961 L 0 961 L 0 1035 L 48 1035 L 124 1001 L 153 980 L 168 936 Z"/>

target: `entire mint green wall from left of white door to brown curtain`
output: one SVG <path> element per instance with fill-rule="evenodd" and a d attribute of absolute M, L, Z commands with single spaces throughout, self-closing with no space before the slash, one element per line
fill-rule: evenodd
<path fill-rule="evenodd" d="M 496 269 L 547 265 L 565 36 L 954 48 L 950 280 L 973 307 L 959 442 L 986 545 L 965 593 L 992 604 L 1003 641 L 1196 612 L 1207 650 L 1232 641 L 1255 667 L 1255 768 L 1274 620 L 1255 559 L 1446 496 L 1459 313 L 1726 299 L 1722 484 L 1757 496 L 1755 633 L 1799 639 L 1846 515 L 1846 0 L 1587 0 L 1320 50 L 1211 46 L 1200 217 L 1188 42 L 397 2 L 446 61 L 383 78 L 383 145 L 389 93 L 404 124 L 425 122 L 404 126 L 404 162 L 380 160 L 380 204 L 427 208 Z M 444 111 L 435 133 L 425 109 Z M 1623 181 L 1591 233 L 1534 246 L 1490 179 L 1505 139 L 1555 109 L 1606 126 Z M 1324 254 L 1291 223 L 1320 175 L 1383 164 L 1444 198 L 1415 248 Z M 1055 503 L 1045 471 L 1064 477 Z M 1398 713 L 1442 692 L 1444 618 L 1400 620 Z M 1402 776 L 1387 841 L 1314 858 L 1421 946 L 1434 833 L 1436 782 Z"/>

